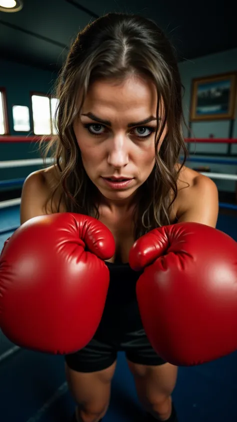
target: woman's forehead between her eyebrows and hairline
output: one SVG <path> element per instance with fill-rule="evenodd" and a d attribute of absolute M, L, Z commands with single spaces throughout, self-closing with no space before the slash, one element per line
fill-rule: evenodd
<path fill-rule="evenodd" d="M 93 82 L 83 104 L 83 112 L 156 113 L 156 87 L 148 78 L 130 76 L 123 82 L 99 80 Z"/>

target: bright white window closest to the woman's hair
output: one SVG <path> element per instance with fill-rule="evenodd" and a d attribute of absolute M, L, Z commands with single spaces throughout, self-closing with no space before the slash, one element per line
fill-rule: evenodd
<path fill-rule="evenodd" d="M 35 135 L 56 134 L 53 124 L 54 114 L 57 106 L 56 98 L 49 98 L 45 95 L 31 96 L 33 114 L 33 132 Z"/>

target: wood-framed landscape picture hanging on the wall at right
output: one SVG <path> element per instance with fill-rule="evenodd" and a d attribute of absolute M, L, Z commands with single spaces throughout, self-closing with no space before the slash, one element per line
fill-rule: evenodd
<path fill-rule="evenodd" d="M 192 80 L 190 121 L 233 119 L 236 73 Z"/>

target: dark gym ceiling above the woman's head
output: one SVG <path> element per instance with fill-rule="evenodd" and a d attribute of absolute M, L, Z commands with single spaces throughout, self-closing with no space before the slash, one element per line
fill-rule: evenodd
<path fill-rule="evenodd" d="M 179 61 L 237 47 L 236 15 L 227 1 L 221 6 L 208 0 L 22 0 L 22 3 L 19 12 L 0 12 L 0 58 L 41 69 L 59 70 L 77 32 L 108 12 L 136 13 L 155 20 L 174 44 Z"/>

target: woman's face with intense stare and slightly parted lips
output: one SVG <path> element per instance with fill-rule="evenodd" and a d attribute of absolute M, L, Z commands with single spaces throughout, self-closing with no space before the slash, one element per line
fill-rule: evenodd
<path fill-rule="evenodd" d="M 151 173 L 155 129 L 161 124 L 156 105 L 156 89 L 148 80 L 131 76 L 119 85 L 90 86 L 73 129 L 84 169 L 107 200 L 130 198 Z"/>

